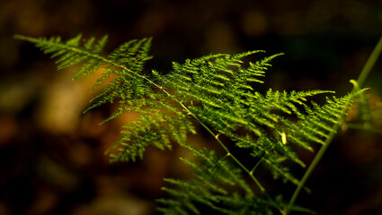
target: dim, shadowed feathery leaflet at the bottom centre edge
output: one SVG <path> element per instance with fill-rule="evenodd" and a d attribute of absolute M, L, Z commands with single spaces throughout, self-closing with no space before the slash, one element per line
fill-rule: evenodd
<path fill-rule="evenodd" d="M 204 214 L 205 211 L 200 209 L 206 207 L 219 214 L 272 214 L 278 210 L 267 198 L 255 197 L 240 169 L 230 165 L 226 159 L 218 159 L 210 150 L 186 148 L 198 159 L 197 162 L 183 159 L 194 169 L 195 177 L 189 181 L 165 179 L 173 187 L 164 188 L 171 198 L 157 200 L 161 203 L 158 211 L 164 214 Z"/>

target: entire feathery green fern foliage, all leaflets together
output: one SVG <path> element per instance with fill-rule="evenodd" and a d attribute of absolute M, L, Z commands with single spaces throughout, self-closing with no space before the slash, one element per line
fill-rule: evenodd
<path fill-rule="evenodd" d="M 342 116 L 363 92 L 358 89 L 342 98 L 327 98 L 324 105 L 308 99 L 333 91 L 270 89 L 262 94 L 256 88 L 263 83 L 271 60 L 282 55 L 244 63 L 244 57 L 263 51 L 188 59 L 173 63 L 173 71 L 162 75 L 143 73 L 151 58 L 151 39 L 130 40 L 104 56 L 107 36 L 96 40 L 79 35 L 67 41 L 58 37 L 16 38 L 35 43 L 45 54 L 56 57 L 58 69 L 82 64 L 74 79 L 102 68 L 93 90 L 112 79 L 85 111 L 118 103 L 118 110 L 104 122 L 126 112 L 140 117 L 124 125 L 120 141 L 107 151 L 111 161 L 142 159 L 148 146 L 171 149 L 172 142 L 191 151 L 198 161 L 183 161 L 195 176 L 191 180 L 165 179 L 172 187 L 164 188 L 169 198 L 158 200 L 158 210 L 164 214 L 200 214 L 204 208 L 222 214 L 285 213 L 286 204 L 266 193 L 255 177 L 256 170 L 263 166 L 274 178 L 300 185 L 289 170 L 291 164 L 306 167 L 295 149 L 313 151 L 314 144 L 330 142 L 332 133 L 337 132 L 334 125 L 342 124 Z M 226 154 L 190 146 L 187 135 L 196 133 L 197 125 L 213 135 L 216 142 L 211 144 L 218 142 Z M 230 141 L 223 143 L 221 136 Z M 235 148 L 246 151 L 252 161 L 244 164 L 236 158 L 231 152 Z M 308 211 L 293 205 L 289 210 Z"/>

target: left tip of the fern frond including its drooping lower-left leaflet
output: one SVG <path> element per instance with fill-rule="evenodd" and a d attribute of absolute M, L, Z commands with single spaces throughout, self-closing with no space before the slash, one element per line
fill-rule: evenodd
<path fill-rule="evenodd" d="M 155 92 L 151 85 L 153 82 L 143 74 L 145 62 L 151 58 L 148 55 L 151 38 L 131 40 L 117 47 L 109 56 L 103 56 L 101 53 L 107 42 L 107 36 L 96 41 L 94 38 L 83 39 L 82 35 L 78 35 L 66 42 L 59 37 L 33 39 L 15 36 L 15 38 L 33 42 L 45 54 L 58 57 L 56 62 L 58 69 L 82 63 L 74 74 L 74 79 L 89 75 L 102 67 L 104 69 L 102 77 L 94 84 L 93 90 L 113 76 L 111 82 L 93 97 L 91 100 L 93 105 L 84 112 L 118 101 L 120 105 L 118 110 L 103 123 L 130 111 L 137 112 L 142 118 L 124 127 L 126 130 L 121 132 L 120 141 L 107 151 L 119 151 L 111 155 L 111 160 L 141 158 L 148 145 L 162 150 L 171 148 L 171 140 L 185 142 L 186 133 L 194 132 L 191 122 L 185 119 L 182 112 L 168 115 L 168 112 L 154 111 L 154 109 L 168 109 L 168 106 L 164 105 L 167 96 Z M 167 121 L 172 123 L 167 124 Z"/>

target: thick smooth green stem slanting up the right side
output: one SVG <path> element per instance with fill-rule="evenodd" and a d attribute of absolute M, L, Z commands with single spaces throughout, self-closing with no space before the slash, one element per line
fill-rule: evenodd
<path fill-rule="evenodd" d="M 357 87 L 354 86 L 353 91 L 356 90 L 356 88 L 362 88 L 362 86 L 364 85 L 367 77 L 369 76 L 371 68 L 376 63 L 376 61 L 378 59 L 378 56 L 381 54 L 381 51 L 382 51 L 382 37 L 379 39 L 377 46 L 374 48 L 373 52 L 369 56 L 368 61 L 366 62 L 365 66 L 363 67 L 363 69 L 362 69 L 362 71 L 360 73 L 360 76 L 359 76 L 359 78 L 357 80 L 358 86 Z M 347 107 L 346 109 L 348 109 L 348 108 L 349 107 Z M 346 112 L 347 112 L 347 110 L 344 111 L 344 113 L 346 113 Z M 312 174 L 313 170 L 315 169 L 315 166 L 317 166 L 318 162 L 323 157 L 324 152 L 326 151 L 326 149 L 329 147 L 330 143 L 332 142 L 335 133 L 340 129 L 341 122 L 342 122 L 344 116 L 345 116 L 345 114 L 342 114 L 342 116 L 340 116 L 339 119 L 338 119 L 338 123 L 333 125 L 333 132 L 331 132 L 329 134 L 328 138 L 326 138 L 326 140 L 324 142 L 324 145 L 321 147 L 320 150 L 318 150 L 317 154 L 315 155 L 315 159 L 313 159 L 313 161 L 310 164 L 309 168 L 306 169 L 306 173 L 302 177 L 300 183 L 298 184 L 298 187 L 296 188 L 295 192 L 293 193 L 292 197 L 290 198 L 290 201 L 289 201 L 286 213 L 289 212 L 290 208 L 295 203 L 295 201 L 296 201 L 296 199 L 298 197 L 298 193 L 301 191 L 301 189 L 306 184 L 307 178 Z"/>

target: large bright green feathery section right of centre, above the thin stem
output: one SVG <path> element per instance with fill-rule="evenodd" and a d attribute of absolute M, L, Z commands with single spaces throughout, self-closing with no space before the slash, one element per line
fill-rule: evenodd
<path fill-rule="evenodd" d="M 308 97 L 333 91 L 288 93 L 270 89 L 262 96 L 255 90 L 256 85 L 253 82 L 262 83 L 261 78 L 271 65 L 271 59 L 280 55 L 265 57 L 245 67 L 242 57 L 254 53 L 258 51 L 235 56 L 210 55 L 186 60 L 184 64 L 173 63 L 173 73 L 166 76 L 165 85 L 177 90 L 177 97 L 185 100 L 187 107 L 201 121 L 218 133 L 226 135 L 235 142 L 235 146 L 248 149 L 255 159 L 261 159 L 262 165 L 270 168 L 276 178 L 281 177 L 298 185 L 298 179 L 292 176 L 283 161 L 289 159 L 302 167 L 306 165 L 298 159 L 287 142 L 312 150 L 312 143 L 322 142 L 322 137 L 317 134 L 323 137 L 326 134 L 318 131 L 315 124 L 310 127 L 306 122 L 304 125 L 311 132 L 304 133 L 303 140 L 300 137 L 302 134 L 289 133 L 289 127 L 297 126 L 298 120 L 304 121 L 311 117 L 306 116 L 304 109 L 307 107 Z M 295 120 L 288 119 L 285 115 L 292 116 Z M 331 126 L 324 125 L 322 120 L 317 125 Z"/>

